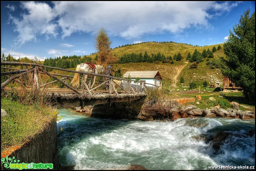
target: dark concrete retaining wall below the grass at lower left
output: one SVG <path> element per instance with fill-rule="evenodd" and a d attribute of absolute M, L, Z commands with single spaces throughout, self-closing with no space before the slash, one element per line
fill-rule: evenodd
<path fill-rule="evenodd" d="M 59 169 L 57 151 L 57 123 L 55 119 L 49 122 L 47 128 L 37 134 L 32 140 L 1 154 L 15 157 L 19 163 L 53 163 L 53 169 Z M 1 168 L 2 169 L 2 168 Z"/>

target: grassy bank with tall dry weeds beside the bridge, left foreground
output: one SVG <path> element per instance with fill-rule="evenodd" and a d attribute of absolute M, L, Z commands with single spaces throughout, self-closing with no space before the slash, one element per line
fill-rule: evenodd
<path fill-rule="evenodd" d="M 38 77 L 39 85 L 45 83 L 45 76 Z M 7 113 L 1 117 L 1 152 L 24 144 L 58 119 L 46 87 L 37 89 L 32 73 L 21 76 L 15 87 L 19 88 L 12 88 L 9 94 L 1 93 L 1 108 Z"/>

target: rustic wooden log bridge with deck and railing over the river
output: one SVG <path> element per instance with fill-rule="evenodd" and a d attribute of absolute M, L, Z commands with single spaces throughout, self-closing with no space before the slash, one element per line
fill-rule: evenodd
<path fill-rule="evenodd" d="M 2 67 L 2 65 L 14 65 L 14 66 L 29 66 L 30 69 L 22 70 L 17 68 L 9 68 L 9 67 Z M 80 100 L 81 107 L 87 105 L 94 105 L 94 104 L 105 104 L 109 103 L 111 105 L 112 102 L 120 102 L 120 101 L 133 101 L 140 99 L 144 96 L 146 96 L 146 91 L 149 88 L 159 88 L 157 85 L 149 84 L 149 83 L 142 83 L 142 85 L 138 84 L 132 84 L 131 82 L 137 82 L 136 80 L 130 80 L 125 78 L 117 78 L 112 77 L 108 75 L 101 75 L 101 74 L 95 74 L 95 73 L 89 73 L 89 72 L 81 72 L 81 71 L 75 71 L 75 70 L 68 70 L 63 68 L 56 68 L 56 67 L 50 67 L 46 65 L 40 65 L 35 63 L 19 63 L 19 62 L 1 62 L 1 68 L 10 70 L 9 72 L 2 72 L 1 76 L 5 76 L 8 79 L 1 83 L 1 91 L 10 92 L 12 88 L 6 87 L 11 81 L 18 81 L 17 79 L 20 78 L 22 75 L 26 75 L 28 73 L 32 73 L 32 87 L 31 88 L 37 88 L 37 89 L 43 89 L 47 92 L 47 94 L 56 99 L 60 100 Z M 69 85 L 67 82 L 68 80 L 71 80 L 74 76 L 72 75 L 62 75 L 62 74 L 55 74 L 55 73 L 49 73 L 46 71 L 46 68 L 55 69 L 55 70 L 61 70 L 65 73 L 79 73 L 83 74 L 81 77 L 81 82 L 83 83 L 81 86 L 81 89 L 76 89 Z M 14 71 L 11 71 L 14 70 Z M 44 83 L 42 85 L 39 85 L 38 83 L 38 74 L 44 74 L 48 75 L 50 78 L 53 78 L 54 81 Z M 109 78 L 106 81 L 103 80 L 97 80 L 98 85 L 96 85 L 94 88 L 89 89 L 91 85 L 91 80 L 89 79 L 89 83 L 86 83 L 84 78 L 84 74 L 86 75 L 94 75 L 97 77 L 105 77 Z M 62 78 L 58 78 L 62 77 Z M 119 85 L 117 81 L 122 81 L 122 84 Z M 52 83 L 59 82 L 62 84 L 61 88 L 47 88 L 48 85 Z M 109 90 L 97 90 L 105 83 L 109 82 Z M 117 88 L 115 88 L 117 87 Z M 120 90 L 118 90 L 118 88 Z"/>

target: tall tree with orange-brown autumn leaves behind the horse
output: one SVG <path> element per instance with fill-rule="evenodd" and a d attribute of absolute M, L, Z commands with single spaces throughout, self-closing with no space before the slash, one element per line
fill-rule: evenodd
<path fill-rule="evenodd" d="M 94 39 L 94 46 L 98 52 L 97 65 L 103 65 L 107 68 L 108 65 L 114 64 L 118 58 L 110 51 L 112 40 L 109 39 L 107 32 L 103 27 L 97 31 Z"/>

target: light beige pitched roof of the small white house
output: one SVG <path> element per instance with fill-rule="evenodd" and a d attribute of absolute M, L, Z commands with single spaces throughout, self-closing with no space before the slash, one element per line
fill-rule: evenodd
<path fill-rule="evenodd" d="M 127 71 L 123 75 L 123 78 L 127 78 L 129 74 L 131 78 L 156 78 L 162 80 L 162 77 L 158 71 Z"/>

